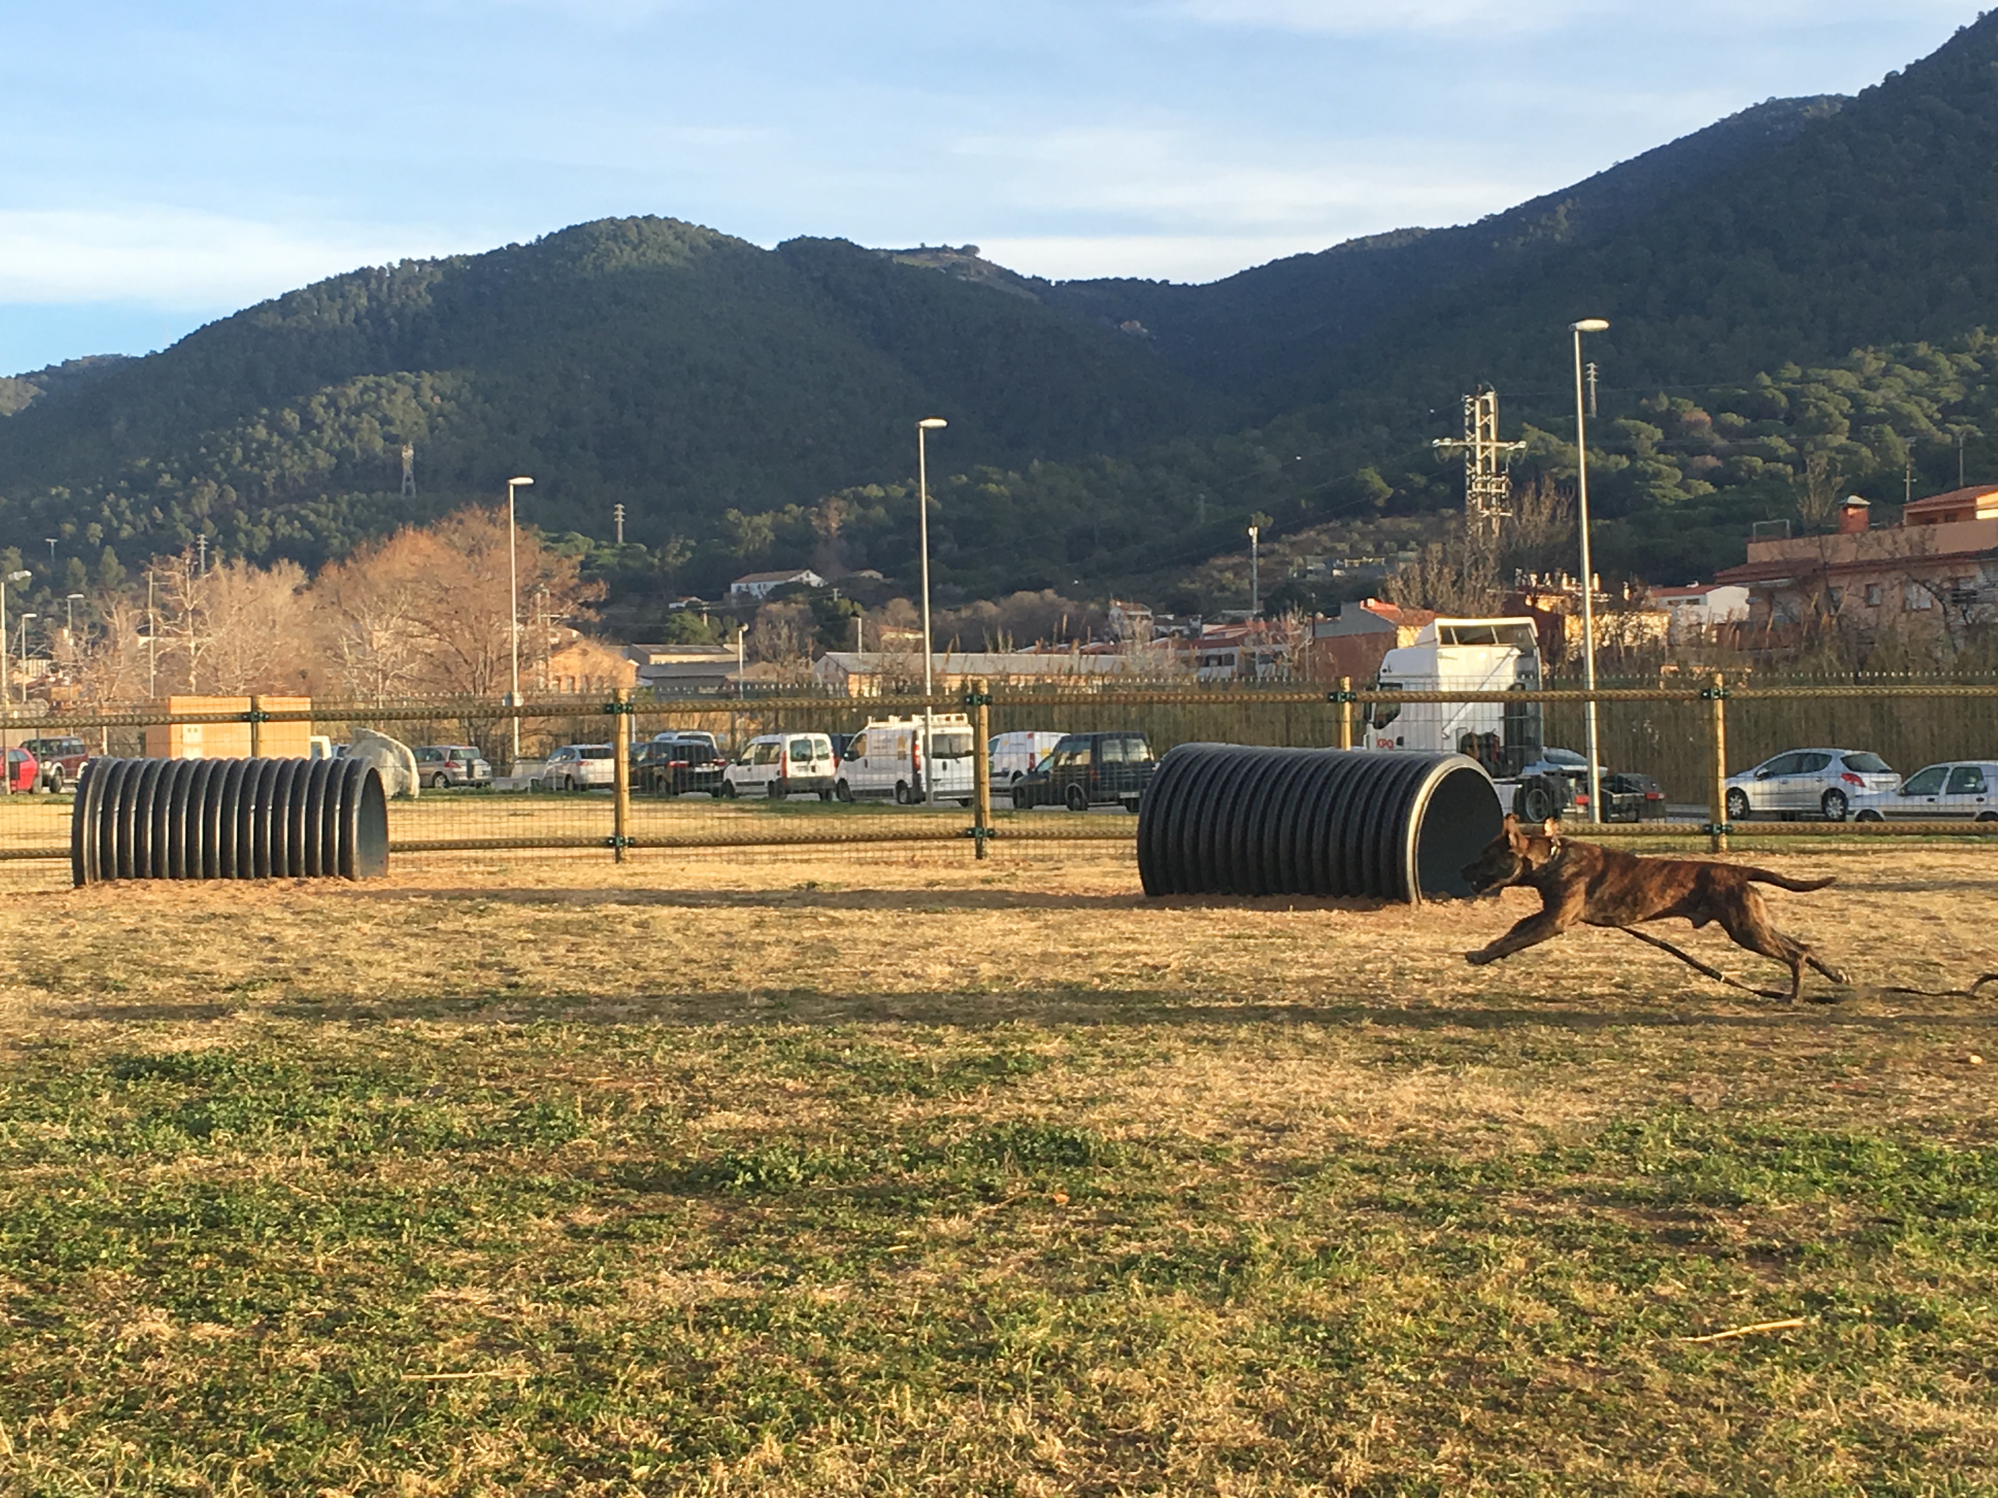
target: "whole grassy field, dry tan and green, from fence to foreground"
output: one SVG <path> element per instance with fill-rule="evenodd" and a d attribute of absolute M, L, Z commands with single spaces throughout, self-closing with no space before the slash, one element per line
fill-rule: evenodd
<path fill-rule="evenodd" d="M 0 1490 L 1998 1490 L 1988 851 L 1794 1011 L 1127 857 L 12 897 Z"/>

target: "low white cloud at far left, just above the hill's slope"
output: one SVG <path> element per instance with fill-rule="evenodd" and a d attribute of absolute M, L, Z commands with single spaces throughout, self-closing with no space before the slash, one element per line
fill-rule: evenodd
<path fill-rule="evenodd" d="M 0 302 L 244 306 L 358 266 L 444 252 L 410 228 L 308 228 L 164 206 L 0 210 Z"/>

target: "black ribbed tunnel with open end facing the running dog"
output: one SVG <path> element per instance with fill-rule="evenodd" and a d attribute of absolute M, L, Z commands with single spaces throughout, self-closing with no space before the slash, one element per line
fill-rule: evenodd
<path fill-rule="evenodd" d="M 1147 895 L 1469 895 L 1459 871 L 1498 835 L 1465 755 L 1185 743 L 1145 789 Z"/>

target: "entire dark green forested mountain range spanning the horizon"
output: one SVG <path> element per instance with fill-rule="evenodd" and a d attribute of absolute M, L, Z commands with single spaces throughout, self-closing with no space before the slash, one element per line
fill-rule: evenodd
<path fill-rule="evenodd" d="M 0 543 L 96 567 L 196 533 L 318 563 L 533 473 L 617 589 L 913 571 L 941 413 L 945 597 L 1161 593 L 1273 529 L 1457 501 L 1431 439 L 1502 393 L 1572 469 L 1566 326 L 1604 316 L 1606 569 L 1684 581 L 1828 487 L 1998 477 L 1998 12 L 1856 100 L 1778 100 L 1481 224 L 1213 286 L 1013 276 L 965 250 L 773 252 L 611 220 L 364 270 L 176 348 L 0 385 Z M 609 505 L 633 545 L 611 553 Z"/>

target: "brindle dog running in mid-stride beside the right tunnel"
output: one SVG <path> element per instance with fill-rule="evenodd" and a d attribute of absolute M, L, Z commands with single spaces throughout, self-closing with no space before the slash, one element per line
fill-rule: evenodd
<path fill-rule="evenodd" d="M 1736 947 L 1774 957 L 1790 969 L 1790 1003 L 1804 993 L 1804 965 L 1832 983 L 1846 977 L 1820 963 L 1810 947 L 1776 931 L 1754 885 L 1808 893 L 1830 879 L 1788 879 L 1768 869 L 1744 869 L 1708 859 L 1636 859 L 1596 843 L 1570 843 L 1554 821 L 1526 827 L 1504 819 L 1498 833 L 1465 865 L 1465 881 L 1479 895 L 1508 885 L 1540 891 L 1540 911 L 1506 931 L 1483 951 L 1465 953 L 1477 967 L 1558 937 L 1574 925 L 1628 929 L 1644 921 L 1684 917 L 1694 931 L 1718 923 Z M 1774 997 L 1774 995 L 1772 995 Z"/>

